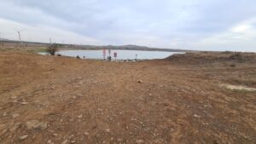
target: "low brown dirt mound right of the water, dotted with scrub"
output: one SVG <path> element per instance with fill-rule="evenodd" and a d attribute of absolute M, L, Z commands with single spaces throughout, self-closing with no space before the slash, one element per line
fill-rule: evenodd
<path fill-rule="evenodd" d="M 201 52 L 172 55 L 166 58 L 166 60 L 183 64 L 211 64 L 216 62 L 244 63 L 256 62 L 256 54 L 238 52 Z"/>

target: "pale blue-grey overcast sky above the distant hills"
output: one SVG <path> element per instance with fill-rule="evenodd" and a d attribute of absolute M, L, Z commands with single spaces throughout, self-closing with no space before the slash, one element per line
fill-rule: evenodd
<path fill-rule="evenodd" d="M 0 0 L 0 37 L 256 52 L 255 0 Z"/>

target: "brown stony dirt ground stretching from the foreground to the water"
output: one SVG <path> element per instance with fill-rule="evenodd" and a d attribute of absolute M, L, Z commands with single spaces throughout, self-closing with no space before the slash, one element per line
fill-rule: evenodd
<path fill-rule="evenodd" d="M 5 51 L 0 67 L 3 144 L 256 143 L 255 54 L 108 62 Z"/>

